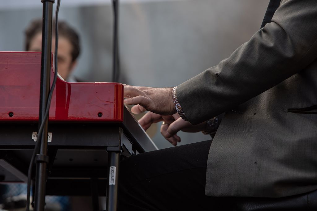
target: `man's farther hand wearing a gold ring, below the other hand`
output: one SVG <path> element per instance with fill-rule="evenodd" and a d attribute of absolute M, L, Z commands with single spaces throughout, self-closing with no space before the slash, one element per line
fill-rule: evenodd
<path fill-rule="evenodd" d="M 148 112 L 139 120 L 139 123 L 144 130 L 147 130 L 152 123 L 159 121 L 164 121 L 165 123 L 161 125 L 161 134 L 174 146 L 177 145 L 177 142 L 181 141 L 180 137 L 177 135 L 178 131 L 182 130 L 184 132 L 196 133 L 203 131 L 206 127 L 206 122 L 198 125 L 192 125 L 190 122 L 184 121 L 180 118 L 178 113 L 164 116 Z"/>

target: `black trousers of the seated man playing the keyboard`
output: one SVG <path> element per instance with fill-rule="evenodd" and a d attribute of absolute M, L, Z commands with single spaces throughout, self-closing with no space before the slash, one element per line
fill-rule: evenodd
<path fill-rule="evenodd" d="M 317 210 L 317 191 L 285 198 L 206 196 L 210 144 L 203 141 L 122 160 L 119 210 Z"/>

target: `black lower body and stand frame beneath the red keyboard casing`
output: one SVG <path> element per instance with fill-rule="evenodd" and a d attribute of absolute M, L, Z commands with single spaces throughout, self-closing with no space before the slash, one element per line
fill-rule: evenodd
<path fill-rule="evenodd" d="M 37 128 L 36 122 L 0 123 L 0 161 L 21 175 L 27 175 L 36 143 L 32 132 Z M 92 195 L 94 209 L 98 208 L 98 195 L 107 195 L 107 210 L 117 210 L 120 157 L 157 149 L 126 107 L 122 123 L 50 122 L 49 132 L 47 194 Z M 115 185 L 107 180 L 110 166 L 116 167 Z M 1 168 L 4 170 L 0 162 L 3 172 Z M 25 182 L 10 178 L 4 174 L 0 182 Z"/>

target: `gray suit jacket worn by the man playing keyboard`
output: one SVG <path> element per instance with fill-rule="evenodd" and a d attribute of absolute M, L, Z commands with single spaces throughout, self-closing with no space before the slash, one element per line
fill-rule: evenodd
<path fill-rule="evenodd" d="M 197 124 L 226 112 L 212 141 L 206 195 L 282 197 L 317 189 L 317 1 L 283 0 L 229 58 L 180 84 Z"/>

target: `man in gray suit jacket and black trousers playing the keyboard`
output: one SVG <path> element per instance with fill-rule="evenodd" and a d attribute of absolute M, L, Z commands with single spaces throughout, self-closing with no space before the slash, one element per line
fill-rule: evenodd
<path fill-rule="evenodd" d="M 181 203 L 184 208 L 177 210 L 195 205 L 204 210 L 223 198 L 228 205 L 237 197 L 277 198 L 263 203 L 303 197 L 302 202 L 286 203 L 288 208 L 306 204 L 316 209 L 317 200 L 310 197 L 316 197 L 317 189 L 317 2 L 282 0 L 277 6 L 272 21 L 217 66 L 174 88 L 125 86 L 125 103 L 136 105 L 132 111 L 150 111 L 140 124 L 146 129 L 163 120 L 161 132 L 174 145 L 177 131 L 205 130 L 205 121 L 225 112 L 212 143 L 122 162 L 122 171 L 133 164 L 137 175 L 122 178 L 125 187 L 120 191 L 130 210 L 175 210 Z M 196 166 L 191 161 L 195 156 L 205 163 Z M 196 197 L 195 189 L 201 186 L 196 170 L 204 165 L 205 178 L 199 179 L 204 180 L 204 194 Z M 171 177 L 175 171 L 182 174 Z M 171 197 L 177 195 L 182 200 L 171 208 Z M 204 202 L 193 203 L 193 197 Z"/>

